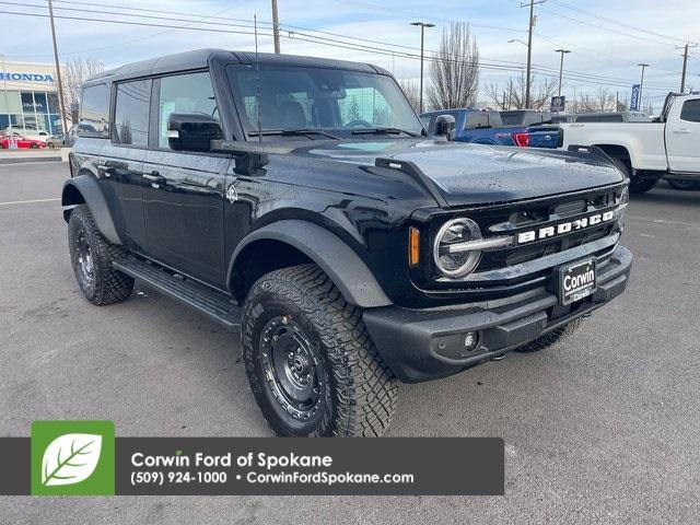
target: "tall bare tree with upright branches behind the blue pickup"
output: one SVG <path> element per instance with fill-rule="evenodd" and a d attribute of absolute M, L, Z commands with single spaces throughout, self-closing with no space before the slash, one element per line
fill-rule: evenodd
<path fill-rule="evenodd" d="M 474 106 L 479 90 L 479 48 L 469 26 L 455 22 L 443 30 L 430 62 L 428 101 L 434 109 Z"/>

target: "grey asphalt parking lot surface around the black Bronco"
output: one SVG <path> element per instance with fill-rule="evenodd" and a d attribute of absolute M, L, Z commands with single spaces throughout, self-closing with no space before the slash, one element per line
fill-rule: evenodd
<path fill-rule="evenodd" d="M 141 288 L 108 307 L 82 299 L 67 176 L 58 162 L 0 165 L 0 435 L 37 419 L 270 435 L 219 325 Z M 0 522 L 697 523 L 700 191 L 634 196 L 623 240 L 627 293 L 567 343 L 401 389 L 389 435 L 503 436 L 505 497 L 2 498 Z"/>

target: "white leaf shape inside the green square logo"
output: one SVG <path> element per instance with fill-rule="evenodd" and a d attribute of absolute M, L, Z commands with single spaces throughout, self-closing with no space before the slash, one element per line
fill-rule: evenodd
<path fill-rule="evenodd" d="M 42 459 L 42 485 L 75 485 L 88 479 L 100 462 L 102 435 L 63 434 L 46 447 Z"/>

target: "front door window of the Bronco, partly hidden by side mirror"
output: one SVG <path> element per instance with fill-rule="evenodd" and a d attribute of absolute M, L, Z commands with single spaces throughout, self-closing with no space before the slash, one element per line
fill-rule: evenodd
<path fill-rule="evenodd" d="M 173 113 L 197 113 L 219 118 L 219 108 L 208 72 L 177 74 L 161 79 L 159 102 L 159 148 L 167 144 L 167 119 Z"/>

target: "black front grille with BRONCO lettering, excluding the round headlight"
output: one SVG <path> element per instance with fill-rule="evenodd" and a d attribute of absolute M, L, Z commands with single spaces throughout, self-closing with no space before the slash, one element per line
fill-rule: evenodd
<path fill-rule="evenodd" d="M 485 241 L 504 240 L 481 252 L 478 266 L 464 279 L 448 279 L 434 268 L 415 270 L 412 278 L 434 293 L 460 293 L 472 295 L 505 296 L 541 285 L 551 269 L 567 262 L 567 256 L 558 254 L 571 250 L 571 258 L 595 256 L 598 262 L 615 249 L 619 238 L 618 208 L 625 185 L 619 184 L 569 196 L 555 196 L 530 201 L 483 206 L 448 213 L 431 214 L 433 235 L 455 217 L 467 217 L 479 225 Z M 607 220 L 583 228 L 562 230 L 592 217 Z M 540 235 L 542 229 L 555 229 L 551 236 Z M 536 236 L 532 236 L 537 232 Z M 527 235 L 529 237 L 518 237 Z M 508 242 L 508 240 L 511 240 Z M 427 252 L 432 249 L 434 237 L 427 238 Z M 430 243 L 430 245 L 428 245 Z M 432 256 L 432 252 L 430 252 Z M 421 287 L 422 288 L 422 287 Z M 487 294 L 487 295 L 485 295 Z"/>

